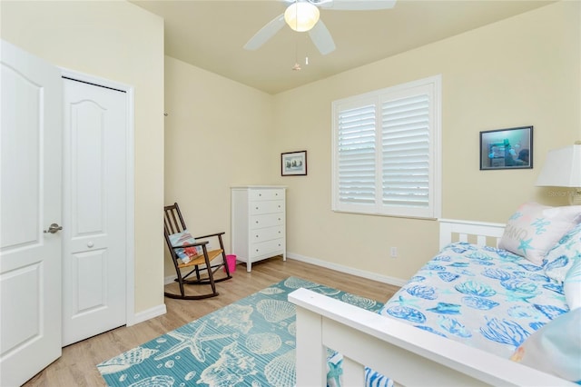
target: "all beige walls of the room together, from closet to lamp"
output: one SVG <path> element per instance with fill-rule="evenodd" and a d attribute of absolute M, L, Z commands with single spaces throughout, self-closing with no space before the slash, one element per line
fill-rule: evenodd
<path fill-rule="evenodd" d="M 162 205 L 181 203 L 194 233 L 230 233 L 236 184 L 289 187 L 292 254 L 395 278 L 415 273 L 437 249 L 436 222 L 330 211 L 330 104 L 352 94 L 442 74 L 444 217 L 505 222 L 529 199 L 563 204 L 534 181 L 549 149 L 581 138 L 579 2 L 276 96 L 171 57 L 164 73 L 162 20 L 128 3 L 3 1 L 1 13 L 5 40 L 135 87 L 136 312 L 163 302 Z M 528 124 L 535 126 L 534 169 L 478 170 L 479 131 Z M 280 154 L 305 149 L 309 175 L 281 177 Z M 226 243 L 230 251 L 229 236 Z M 388 258 L 390 246 L 398 259 Z"/>

